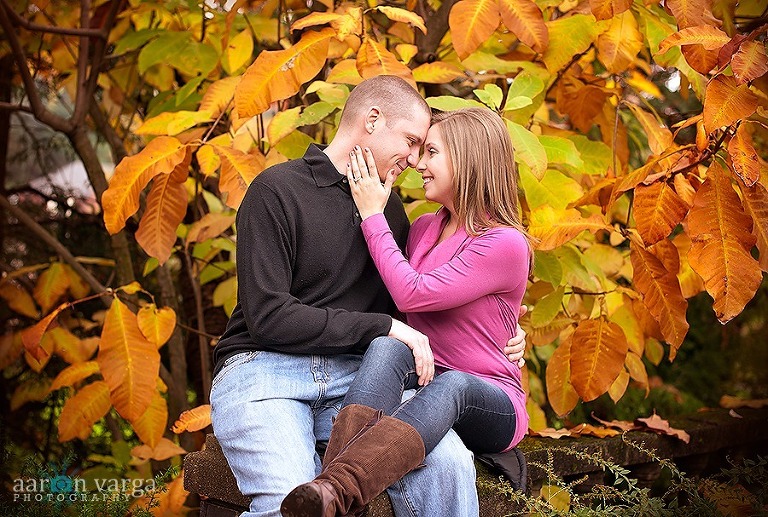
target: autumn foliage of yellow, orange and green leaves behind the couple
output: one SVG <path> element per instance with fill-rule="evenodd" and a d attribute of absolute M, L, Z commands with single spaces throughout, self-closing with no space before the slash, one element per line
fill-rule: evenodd
<path fill-rule="evenodd" d="M 735 0 L 0 0 L 4 475 L 66 450 L 148 478 L 201 446 L 245 189 L 382 73 L 507 121 L 534 431 L 766 397 L 766 23 Z M 73 160 L 92 194 L 46 180 Z M 399 192 L 436 208 L 414 171 Z"/>

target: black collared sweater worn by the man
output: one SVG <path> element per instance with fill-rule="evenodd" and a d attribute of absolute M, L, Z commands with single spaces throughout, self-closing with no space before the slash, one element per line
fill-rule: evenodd
<path fill-rule="evenodd" d="M 408 219 L 384 212 L 401 249 Z M 315 145 L 253 180 L 237 214 L 238 303 L 214 350 L 362 353 L 386 335 L 394 304 L 373 264 L 347 179 Z"/>

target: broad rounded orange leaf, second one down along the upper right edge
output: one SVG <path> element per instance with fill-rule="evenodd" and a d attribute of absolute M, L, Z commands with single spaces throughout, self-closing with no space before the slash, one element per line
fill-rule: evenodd
<path fill-rule="evenodd" d="M 733 77 L 718 75 L 707 85 L 704 129 L 712 133 L 749 117 L 756 109 L 757 95 L 746 84 L 739 85 Z"/>

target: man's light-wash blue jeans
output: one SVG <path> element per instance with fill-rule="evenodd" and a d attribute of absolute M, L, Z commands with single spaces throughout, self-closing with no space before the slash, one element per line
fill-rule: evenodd
<path fill-rule="evenodd" d="M 316 441 L 360 367 L 358 355 L 244 352 L 213 380 L 211 419 L 240 491 L 252 497 L 247 517 L 279 517 L 280 503 L 320 472 Z M 472 453 L 450 432 L 417 469 L 388 489 L 397 517 L 477 517 Z"/>

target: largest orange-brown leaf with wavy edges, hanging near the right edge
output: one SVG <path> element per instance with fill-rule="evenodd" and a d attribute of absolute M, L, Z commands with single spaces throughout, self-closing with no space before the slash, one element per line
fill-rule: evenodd
<path fill-rule="evenodd" d="M 693 241 L 688 260 L 704 279 L 722 323 L 742 311 L 763 278 L 750 253 L 756 242 L 751 231 L 752 220 L 733 190 L 730 175 L 713 161 L 688 214 Z"/>

